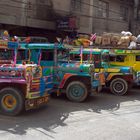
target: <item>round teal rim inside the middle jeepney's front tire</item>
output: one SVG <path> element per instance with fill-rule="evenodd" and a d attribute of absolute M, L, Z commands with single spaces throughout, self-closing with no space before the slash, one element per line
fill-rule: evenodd
<path fill-rule="evenodd" d="M 85 89 L 82 88 L 80 85 L 76 84 L 76 85 L 73 85 L 73 86 L 70 87 L 69 93 L 74 98 L 79 98 L 81 96 L 84 96 Z"/>

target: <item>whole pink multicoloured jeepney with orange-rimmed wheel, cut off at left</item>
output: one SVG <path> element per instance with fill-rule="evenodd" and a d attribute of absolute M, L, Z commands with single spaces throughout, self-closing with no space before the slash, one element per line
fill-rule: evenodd
<path fill-rule="evenodd" d="M 16 64 L 17 48 L 16 42 L 0 41 L 0 112 L 12 116 L 45 105 L 49 99 L 42 68 Z"/>

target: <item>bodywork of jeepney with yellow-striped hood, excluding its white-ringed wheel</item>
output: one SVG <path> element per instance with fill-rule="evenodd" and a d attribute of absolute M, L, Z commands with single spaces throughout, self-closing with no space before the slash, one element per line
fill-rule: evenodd
<path fill-rule="evenodd" d="M 77 48 L 70 52 L 70 55 L 79 55 L 79 54 L 80 54 L 80 52 L 78 51 Z M 85 55 L 85 57 L 84 57 L 85 59 L 84 59 L 83 63 L 89 63 L 90 62 L 89 59 L 91 59 L 95 65 L 95 72 L 104 72 L 106 82 L 112 80 L 112 78 L 115 76 L 131 77 L 131 78 L 126 78 L 126 80 L 128 80 L 128 82 L 133 81 L 133 74 L 132 74 L 131 67 L 116 66 L 116 65 L 110 64 L 110 61 L 108 61 L 109 50 L 84 49 L 83 54 Z"/>

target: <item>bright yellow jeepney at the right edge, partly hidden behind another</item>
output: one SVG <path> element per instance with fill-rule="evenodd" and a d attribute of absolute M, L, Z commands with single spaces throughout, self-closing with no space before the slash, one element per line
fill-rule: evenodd
<path fill-rule="evenodd" d="M 140 85 L 140 50 L 116 49 L 109 54 L 110 65 L 132 67 L 135 74 L 134 82 Z"/>

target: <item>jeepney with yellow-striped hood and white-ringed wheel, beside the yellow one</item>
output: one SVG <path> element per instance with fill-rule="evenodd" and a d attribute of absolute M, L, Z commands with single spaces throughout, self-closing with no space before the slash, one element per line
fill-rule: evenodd
<path fill-rule="evenodd" d="M 124 95 L 133 82 L 133 74 L 131 67 L 114 67 L 108 61 L 109 50 L 102 49 L 83 49 L 82 63 L 94 63 L 95 72 L 104 71 L 105 86 L 115 95 Z M 79 48 L 74 48 L 70 52 L 70 60 L 79 60 Z M 76 57 L 76 58 L 75 58 Z"/>

